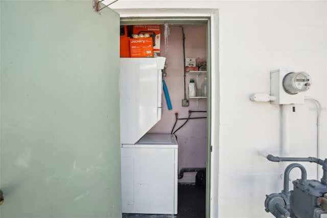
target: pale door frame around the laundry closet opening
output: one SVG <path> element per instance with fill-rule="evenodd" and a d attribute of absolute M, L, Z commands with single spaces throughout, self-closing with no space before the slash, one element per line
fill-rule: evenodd
<path fill-rule="evenodd" d="M 219 14 L 218 9 L 114 9 L 121 25 L 137 24 L 206 24 L 207 25 L 207 161 L 206 217 L 218 217 L 219 188 Z"/>

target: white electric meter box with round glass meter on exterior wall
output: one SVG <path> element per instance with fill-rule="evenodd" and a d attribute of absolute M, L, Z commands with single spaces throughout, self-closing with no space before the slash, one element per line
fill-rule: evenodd
<path fill-rule="evenodd" d="M 311 77 L 303 71 L 275 70 L 270 72 L 272 104 L 303 104 L 305 91 L 311 86 Z"/>

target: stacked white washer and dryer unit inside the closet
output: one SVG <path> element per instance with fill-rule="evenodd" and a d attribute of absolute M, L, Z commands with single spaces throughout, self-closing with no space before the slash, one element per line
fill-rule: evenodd
<path fill-rule="evenodd" d="M 166 58 L 120 61 L 122 211 L 177 214 L 176 137 L 147 134 L 161 119 Z"/>

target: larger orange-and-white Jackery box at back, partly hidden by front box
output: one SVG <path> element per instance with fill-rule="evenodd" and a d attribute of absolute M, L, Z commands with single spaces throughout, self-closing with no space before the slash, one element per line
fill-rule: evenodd
<path fill-rule="evenodd" d="M 160 25 L 134 25 L 133 34 L 149 33 L 153 40 L 153 52 L 160 53 Z"/>

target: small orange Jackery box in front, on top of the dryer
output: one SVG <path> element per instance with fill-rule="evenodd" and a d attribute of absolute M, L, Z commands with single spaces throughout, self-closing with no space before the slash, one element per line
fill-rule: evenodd
<path fill-rule="evenodd" d="M 131 57 L 153 57 L 152 38 L 131 38 L 129 39 Z"/>

